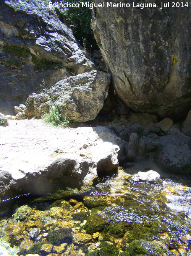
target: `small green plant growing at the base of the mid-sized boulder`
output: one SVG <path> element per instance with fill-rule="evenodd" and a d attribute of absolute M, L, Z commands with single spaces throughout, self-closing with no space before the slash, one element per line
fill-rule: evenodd
<path fill-rule="evenodd" d="M 63 126 L 68 127 L 70 120 L 63 118 L 61 114 L 61 109 L 57 104 L 52 104 L 48 113 L 44 114 L 43 120 L 46 123 L 52 124 L 53 126 Z"/>

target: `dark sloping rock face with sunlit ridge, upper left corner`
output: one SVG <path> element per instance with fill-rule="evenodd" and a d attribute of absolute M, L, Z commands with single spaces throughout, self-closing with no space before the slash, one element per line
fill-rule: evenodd
<path fill-rule="evenodd" d="M 5 0 L 0 9 L 0 111 L 32 92 L 92 70 L 71 31 L 40 1 Z M 41 85 L 41 86 L 40 86 Z"/>

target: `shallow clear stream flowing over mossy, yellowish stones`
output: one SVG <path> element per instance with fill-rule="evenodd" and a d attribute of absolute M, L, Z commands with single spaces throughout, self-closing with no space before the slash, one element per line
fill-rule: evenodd
<path fill-rule="evenodd" d="M 131 181 L 133 172 L 119 168 L 86 192 L 3 201 L 0 244 L 18 255 L 191 255 L 191 180 L 153 185 Z"/>

